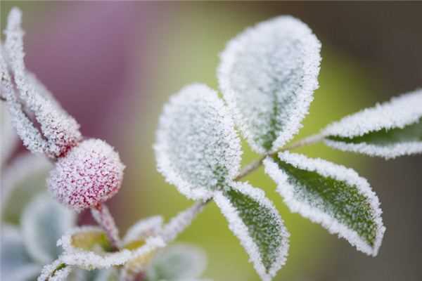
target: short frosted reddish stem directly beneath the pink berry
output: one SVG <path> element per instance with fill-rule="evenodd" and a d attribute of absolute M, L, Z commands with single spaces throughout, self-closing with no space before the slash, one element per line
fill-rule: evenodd
<path fill-rule="evenodd" d="M 119 229 L 106 204 L 97 204 L 95 207 L 92 207 L 91 214 L 95 221 L 106 232 L 108 240 L 110 240 L 113 248 L 115 248 L 115 250 L 120 249 Z"/>

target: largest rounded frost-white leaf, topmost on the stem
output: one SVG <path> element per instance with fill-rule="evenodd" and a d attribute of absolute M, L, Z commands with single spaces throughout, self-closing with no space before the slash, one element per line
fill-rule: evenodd
<path fill-rule="evenodd" d="M 321 44 L 298 19 L 281 16 L 227 44 L 219 86 L 255 152 L 273 152 L 302 126 L 318 87 Z"/>

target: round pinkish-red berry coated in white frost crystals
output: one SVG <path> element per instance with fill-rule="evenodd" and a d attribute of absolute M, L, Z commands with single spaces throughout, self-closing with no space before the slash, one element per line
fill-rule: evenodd
<path fill-rule="evenodd" d="M 89 139 L 60 157 L 48 185 L 56 199 L 76 211 L 105 202 L 120 189 L 124 164 L 107 143 Z"/>

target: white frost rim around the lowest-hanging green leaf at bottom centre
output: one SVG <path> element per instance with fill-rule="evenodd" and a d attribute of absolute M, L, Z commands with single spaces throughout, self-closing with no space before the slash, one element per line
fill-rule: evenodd
<path fill-rule="evenodd" d="M 265 194 L 262 190 L 258 188 L 252 188 L 251 185 L 243 182 L 235 182 L 231 186 L 239 192 L 243 193 L 244 195 L 248 195 L 248 197 L 258 202 L 262 209 L 266 209 L 267 211 L 271 212 L 271 216 L 276 218 L 277 221 L 280 222 L 279 233 L 277 234 L 281 235 L 283 240 L 279 249 L 276 249 L 278 251 L 276 261 L 273 261 L 271 268 L 269 268 L 269 270 L 266 270 L 262 261 L 260 249 L 258 248 L 258 245 L 255 243 L 255 241 L 252 239 L 248 230 L 248 226 L 245 225 L 245 223 L 239 216 L 238 210 L 233 206 L 233 204 L 231 204 L 229 199 L 224 195 L 222 191 L 215 192 L 215 203 L 222 211 L 222 214 L 226 217 L 227 221 L 229 221 L 230 230 L 241 241 L 242 246 L 248 253 L 250 261 L 252 262 L 258 275 L 260 275 L 261 279 L 263 281 L 269 281 L 276 275 L 277 271 L 281 268 L 281 266 L 286 263 L 289 247 L 288 237 L 290 235 L 287 232 L 286 228 L 284 228 L 283 220 L 281 219 L 279 212 L 275 209 L 271 201 L 269 201 L 267 197 L 265 197 Z"/>

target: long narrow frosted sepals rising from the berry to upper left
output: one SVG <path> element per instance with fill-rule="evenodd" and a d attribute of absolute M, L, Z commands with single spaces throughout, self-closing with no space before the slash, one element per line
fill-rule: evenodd
<path fill-rule="evenodd" d="M 82 140 L 82 135 L 79 132 L 79 124 L 68 115 L 61 107 L 58 106 L 56 100 L 51 99 L 51 95 L 46 94 L 46 89 L 41 86 L 39 81 L 29 74 L 25 68 L 23 52 L 23 30 L 21 28 L 22 13 L 18 8 L 13 8 L 11 13 L 8 15 L 8 21 L 6 30 L 6 41 L 4 43 L 4 49 L 1 52 L 5 53 L 6 63 L 8 67 L 1 67 L 2 72 L 8 72 L 8 68 L 11 69 L 13 74 L 13 81 L 15 81 L 16 89 L 20 93 L 20 98 L 25 101 L 27 108 L 34 113 L 37 122 L 40 124 L 41 132 L 46 141 L 38 144 L 38 140 L 30 140 L 28 137 L 32 134 L 34 138 L 34 127 L 30 124 L 26 124 L 25 128 L 19 130 L 21 138 L 25 145 L 34 152 L 45 152 L 51 157 L 60 157 L 65 155 L 70 148 L 74 147 Z M 3 64 L 3 63 L 2 63 Z M 9 76 L 9 74 L 3 74 L 2 78 Z M 9 92 L 13 92 L 13 86 L 10 84 L 10 78 L 6 79 L 9 85 Z M 13 93 L 9 93 L 6 96 L 6 100 L 16 107 L 15 110 L 22 109 L 16 105 L 18 101 L 16 97 L 12 97 Z M 18 115 L 18 113 L 15 113 Z M 20 113 L 20 115 L 25 115 Z M 15 120 L 15 126 L 24 127 L 23 124 L 27 122 L 23 119 L 25 116 L 17 116 Z M 30 131 L 28 131 L 28 129 Z M 26 130 L 26 132 L 25 132 Z M 37 130 L 35 130 L 37 131 Z M 37 138 L 39 134 L 37 135 Z M 35 141 L 35 143 L 34 143 Z M 41 146 L 41 148 L 39 148 Z M 41 150 L 41 151 L 39 151 Z"/>

